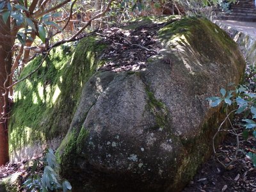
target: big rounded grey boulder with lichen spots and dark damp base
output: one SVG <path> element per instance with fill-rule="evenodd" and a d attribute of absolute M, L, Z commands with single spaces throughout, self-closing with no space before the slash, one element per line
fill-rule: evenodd
<path fill-rule="evenodd" d="M 205 19 L 143 21 L 123 29 L 132 35 L 153 25 L 159 26 L 159 54 L 147 67 L 105 67 L 83 87 L 58 149 L 61 173 L 75 191 L 179 191 L 211 154 L 212 136 L 225 114 L 205 99 L 241 81 L 243 56 Z"/>

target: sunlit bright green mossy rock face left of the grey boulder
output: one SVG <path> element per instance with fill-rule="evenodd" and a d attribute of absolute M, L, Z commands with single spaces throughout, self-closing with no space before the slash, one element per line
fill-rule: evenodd
<path fill-rule="evenodd" d="M 53 49 L 31 77 L 15 86 L 15 104 L 9 124 L 10 153 L 40 140 L 65 136 L 76 111 L 83 84 L 102 65 L 98 58 L 106 44 L 88 36 L 77 47 Z M 42 61 L 38 56 L 22 70 L 27 76 Z"/>

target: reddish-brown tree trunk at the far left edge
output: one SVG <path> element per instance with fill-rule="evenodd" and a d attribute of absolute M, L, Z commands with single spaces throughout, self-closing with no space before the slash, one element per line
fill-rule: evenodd
<path fill-rule="evenodd" d="M 0 15 L 0 166 L 9 161 L 8 156 L 8 90 L 12 67 L 13 38 L 10 20 L 4 24 Z"/>

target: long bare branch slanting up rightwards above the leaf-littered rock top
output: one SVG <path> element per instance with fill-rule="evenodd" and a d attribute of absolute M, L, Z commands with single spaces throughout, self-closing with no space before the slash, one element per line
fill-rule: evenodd
<path fill-rule="evenodd" d="M 67 42 L 72 42 L 72 40 L 74 40 L 74 38 L 76 38 L 85 28 L 87 28 L 87 27 L 91 24 L 91 22 L 92 22 L 93 20 L 97 19 L 98 17 L 101 17 L 101 16 L 104 15 L 106 12 L 108 12 L 108 10 L 109 10 L 109 8 L 110 8 L 110 6 L 111 6 L 111 3 L 112 3 L 113 1 L 115 1 L 115 0 L 110 0 L 109 3 L 108 3 L 108 6 L 106 7 L 106 9 L 105 9 L 103 12 L 101 12 L 101 13 L 99 13 L 99 14 L 93 16 L 90 20 L 88 20 L 88 22 L 83 26 L 83 28 L 81 28 L 79 31 L 77 31 L 77 33 L 76 33 L 75 35 L 71 36 L 71 37 L 68 38 L 68 39 L 63 39 L 63 40 L 61 40 L 60 42 L 56 42 L 55 44 L 51 45 L 51 48 L 57 47 L 58 45 L 65 44 L 65 43 L 67 43 Z"/>

